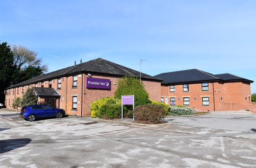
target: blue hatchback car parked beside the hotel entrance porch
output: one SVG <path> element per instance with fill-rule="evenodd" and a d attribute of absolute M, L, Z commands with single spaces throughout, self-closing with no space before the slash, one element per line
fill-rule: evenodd
<path fill-rule="evenodd" d="M 31 105 L 20 110 L 20 117 L 28 121 L 35 121 L 37 118 L 56 117 L 58 119 L 65 115 L 65 110 L 56 109 L 48 105 Z"/>

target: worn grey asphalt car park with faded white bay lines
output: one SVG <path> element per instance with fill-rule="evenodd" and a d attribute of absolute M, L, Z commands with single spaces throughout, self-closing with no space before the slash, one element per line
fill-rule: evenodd
<path fill-rule="evenodd" d="M 166 117 L 168 123 L 161 126 L 88 117 L 0 118 L 0 167 L 255 167 L 254 115 L 214 115 Z M 248 126 L 219 129 L 214 120 L 234 129 L 238 120 Z"/>

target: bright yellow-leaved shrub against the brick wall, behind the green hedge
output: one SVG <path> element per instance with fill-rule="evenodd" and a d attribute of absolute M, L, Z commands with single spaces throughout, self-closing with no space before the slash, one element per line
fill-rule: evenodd
<path fill-rule="evenodd" d="M 114 97 L 102 97 L 94 102 L 92 102 L 90 110 L 91 110 L 91 117 L 101 117 L 100 115 L 100 109 L 102 105 L 105 104 L 114 104 L 116 103 Z"/>

